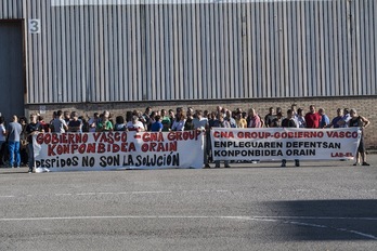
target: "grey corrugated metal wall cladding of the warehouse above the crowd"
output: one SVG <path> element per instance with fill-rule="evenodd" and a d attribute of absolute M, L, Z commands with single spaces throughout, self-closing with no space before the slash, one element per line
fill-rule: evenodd
<path fill-rule="evenodd" d="M 30 104 L 377 94 L 375 0 L 23 2 Z"/>

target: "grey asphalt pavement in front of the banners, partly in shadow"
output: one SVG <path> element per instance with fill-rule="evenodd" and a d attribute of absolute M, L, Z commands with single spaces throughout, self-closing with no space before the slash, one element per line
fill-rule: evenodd
<path fill-rule="evenodd" d="M 0 250 L 377 250 L 377 156 L 232 169 L 0 169 Z"/>

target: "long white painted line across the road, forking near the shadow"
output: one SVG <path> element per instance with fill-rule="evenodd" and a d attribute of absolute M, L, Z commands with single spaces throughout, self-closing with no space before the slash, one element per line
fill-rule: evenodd
<path fill-rule="evenodd" d="M 182 215 L 118 215 L 118 216 L 66 216 L 66 217 L 18 217 L 18 219 L 0 219 L 0 222 L 22 222 L 22 221 L 72 221 L 72 220 L 106 220 L 106 219 L 204 219 L 204 220 L 238 220 L 238 221 L 257 221 L 257 222 L 275 222 L 275 223 L 284 223 L 290 225 L 299 225 L 307 227 L 316 227 L 316 228 L 327 228 L 334 229 L 337 232 L 344 232 L 348 234 L 354 234 L 359 236 L 363 236 L 364 238 L 377 240 L 377 237 L 374 235 L 365 234 L 362 232 L 332 227 L 326 225 L 318 225 L 312 223 L 297 222 L 297 221 L 287 221 L 284 220 L 283 216 L 274 217 L 274 216 L 182 216 Z M 292 219 L 291 216 L 287 216 L 285 219 Z M 315 217 L 315 216 L 301 216 L 301 220 L 314 220 L 320 219 L 324 220 L 324 217 Z M 325 217 L 326 220 L 369 220 L 377 221 L 377 217 Z"/>

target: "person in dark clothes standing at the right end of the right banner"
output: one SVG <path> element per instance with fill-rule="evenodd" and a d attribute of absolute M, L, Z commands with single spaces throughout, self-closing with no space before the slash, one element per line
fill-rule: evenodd
<path fill-rule="evenodd" d="M 362 130 L 362 135 L 359 143 L 358 154 L 356 154 L 356 162 L 353 166 L 358 166 L 360 163 L 360 156 L 363 160 L 362 166 L 370 166 L 366 162 L 366 154 L 364 146 L 364 128 L 367 128 L 370 122 L 365 117 L 358 115 L 356 109 L 350 109 L 351 119 L 348 123 L 350 128 L 360 128 Z"/>

